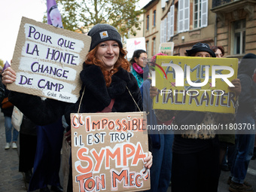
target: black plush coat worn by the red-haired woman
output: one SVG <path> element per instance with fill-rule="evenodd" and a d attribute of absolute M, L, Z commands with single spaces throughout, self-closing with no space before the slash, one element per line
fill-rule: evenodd
<path fill-rule="evenodd" d="M 98 66 L 84 65 L 80 77 L 83 85 L 78 102 L 75 104 L 54 99 L 41 100 L 39 96 L 16 92 L 11 92 L 9 99 L 37 125 L 53 123 L 63 114 L 65 114 L 67 123 L 70 125 L 70 114 L 78 112 L 84 87 L 80 113 L 102 111 L 110 104 L 111 99 L 114 99 L 113 112 L 139 111 L 139 108 L 143 111 L 142 96 L 136 78 L 130 72 L 119 68 L 118 72 L 112 76 L 110 87 L 106 87 L 105 79 Z M 130 90 L 133 98 L 126 87 Z M 139 108 L 133 99 L 135 99 Z"/>

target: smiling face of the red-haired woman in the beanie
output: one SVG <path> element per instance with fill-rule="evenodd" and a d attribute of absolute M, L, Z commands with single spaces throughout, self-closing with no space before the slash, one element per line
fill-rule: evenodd
<path fill-rule="evenodd" d="M 96 51 L 96 58 L 101 60 L 105 69 L 110 71 L 114 68 L 114 64 L 119 57 L 120 48 L 117 41 L 104 41 L 99 44 Z"/>

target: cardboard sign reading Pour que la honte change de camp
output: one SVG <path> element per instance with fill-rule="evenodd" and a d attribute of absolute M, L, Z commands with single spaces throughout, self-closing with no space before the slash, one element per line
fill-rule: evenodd
<path fill-rule="evenodd" d="M 87 35 L 23 17 L 11 62 L 17 79 L 8 89 L 76 102 L 90 41 Z"/>

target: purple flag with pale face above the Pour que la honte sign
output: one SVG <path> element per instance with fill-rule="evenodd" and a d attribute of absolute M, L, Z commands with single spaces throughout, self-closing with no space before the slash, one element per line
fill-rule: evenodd
<path fill-rule="evenodd" d="M 55 0 L 47 0 L 47 23 L 52 26 L 63 28 L 61 15 Z"/>

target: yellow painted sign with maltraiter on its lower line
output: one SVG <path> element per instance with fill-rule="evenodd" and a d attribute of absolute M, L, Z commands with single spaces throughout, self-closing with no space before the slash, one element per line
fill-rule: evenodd
<path fill-rule="evenodd" d="M 238 59 L 157 56 L 156 62 L 152 82 L 159 95 L 153 108 L 235 112 L 236 95 L 229 87 L 237 77 Z"/>

